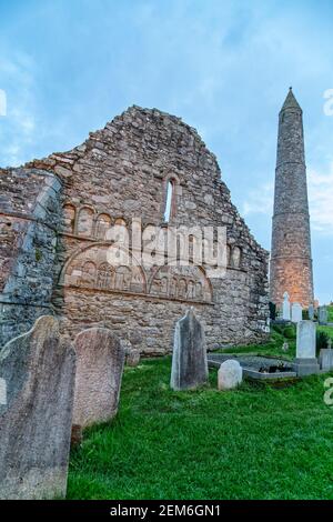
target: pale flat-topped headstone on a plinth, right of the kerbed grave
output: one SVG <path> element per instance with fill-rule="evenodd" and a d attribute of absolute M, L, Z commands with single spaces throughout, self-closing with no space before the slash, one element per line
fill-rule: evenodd
<path fill-rule="evenodd" d="M 300 321 L 297 323 L 296 359 L 294 369 L 299 377 L 319 372 L 319 363 L 315 358 L 315 323 Z"/>

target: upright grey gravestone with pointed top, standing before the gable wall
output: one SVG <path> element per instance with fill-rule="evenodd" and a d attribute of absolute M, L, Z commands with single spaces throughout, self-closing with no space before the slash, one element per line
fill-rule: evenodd
<path fill-rule="evenodd" d="M 175 324 L 170 387 L 188 390 L 208 380 L 204 331 L 191 308 Z"/>

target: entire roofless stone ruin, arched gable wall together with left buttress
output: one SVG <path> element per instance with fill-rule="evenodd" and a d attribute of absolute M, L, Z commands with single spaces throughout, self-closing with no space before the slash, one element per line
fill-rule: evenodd
<path fill-rule="evenodd" d="M 194 129 L 137 107 L 72 151 L 1 171 L 1 342 L 49 307 L 71 338 L 103 325 L 142 353 L 161 354 L 171 350 L 175 321 L 190 305 L 204 324 L 209 349 L 263 341 L 268 252 L 220 178 L 215 157 Z M 141 218 L 143 228 L 161 225 L 169 180 L 170 224 L 226 227 L 223 279 L 209 279 L 195 267 L 135 267 L 129 273 L 108 265 L 109 227 L 132 218 Z"/>

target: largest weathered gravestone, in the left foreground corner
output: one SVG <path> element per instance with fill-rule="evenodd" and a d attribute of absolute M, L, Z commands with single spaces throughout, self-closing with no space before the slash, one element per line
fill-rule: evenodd
<path fill-rule="evenodd" d="M 0 351 L 1 499 L 65 495 L 74 375 L 74 351 L 52 317 Z"/>

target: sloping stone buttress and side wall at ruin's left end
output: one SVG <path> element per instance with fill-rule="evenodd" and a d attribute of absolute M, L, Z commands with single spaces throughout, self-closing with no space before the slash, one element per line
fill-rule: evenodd
<path fill-rule="evenodd" d="M 0 171 L 0 345 L 52 313 L 60 190 L 50 172 Z"/>

